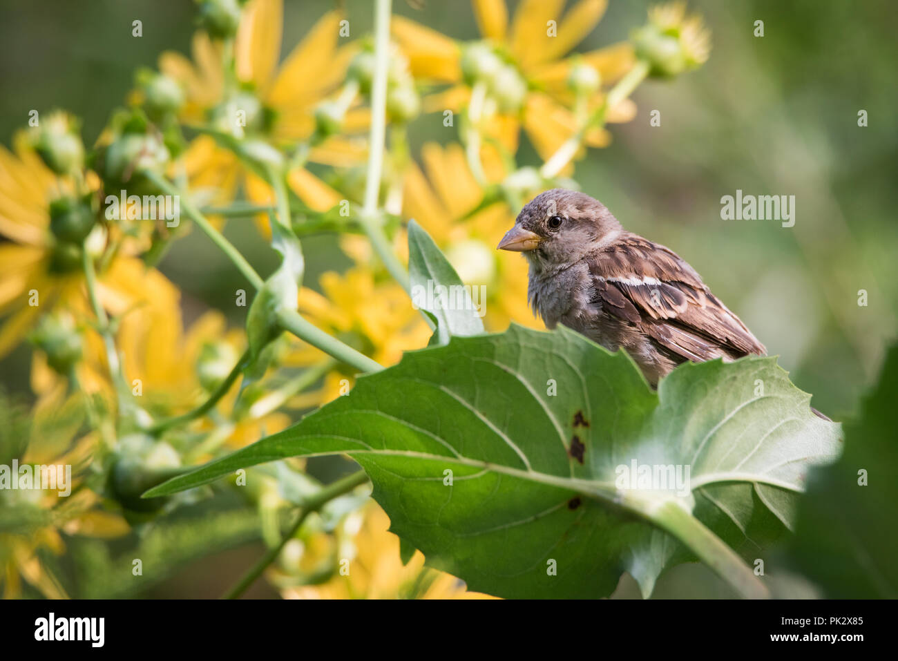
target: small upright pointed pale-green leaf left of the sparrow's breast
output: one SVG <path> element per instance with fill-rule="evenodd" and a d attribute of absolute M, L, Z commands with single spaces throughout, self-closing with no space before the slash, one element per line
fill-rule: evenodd
<path fill-rule="evenodd" d="M 412 304 L 436 320 L 431 344 L 483 332 L 471 288 L 462 284 L 443 252 L 414 220 L 409 221 L 409 284 Z"/>

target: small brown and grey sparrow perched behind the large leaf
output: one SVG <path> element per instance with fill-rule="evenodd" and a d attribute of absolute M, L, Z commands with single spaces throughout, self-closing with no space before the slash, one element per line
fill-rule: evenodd
<path fill-rule="evenodd" d="M 560 322 L 611 351 L 626 349 L 653 387 L 687 360 L 766 354 L 695 269 L 627 232 L 585 193 L 536 196 L 498 248 L 530 263 L 528 299 L 548 328 Z"/>

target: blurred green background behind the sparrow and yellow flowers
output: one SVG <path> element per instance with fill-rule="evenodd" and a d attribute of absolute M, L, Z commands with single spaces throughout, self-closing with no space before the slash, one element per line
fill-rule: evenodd
<path fill-rule="evenodd" d="M 285 4 L 286 55 L 333 3 Z M 625 39 L 645 22 L 648 4 L 612 0 L 577 49 Z M 350 0 L 344 6 L 352 36 L 369 31 L 371 4 Z M 709 62 L 671 84 L 641 85 L 634 94 L 637 118 L 613 125 L 612 145 L 578 163 L 576 179 L 629 230 L 690 261 L 779 355 L 793 381 L 814 393 L 814 406 L 843 419 L 874 382 L 898 317 L 898 4 L 693 0 L 689 6 L 712 31 Z M 454 38 L 479 37 L 463 0 L 394 0 L 394 13 Z M 136 67 L 155 67 L 166 49 L 189 53 L 194 31 L 190 0 L 0 0 L 0 16 L 4 145 L 29 110 L 55 107 L 84 119 L 90 144 L 124 100 Z M 135 19 L 143 22 L 139 39 L 131 36 Z M 760 38 L 753 36 L 758 20 L 764 23 Z M 660 111 L 660 127 L 649 125 L 652 110 Z M 858 127 L 858 110 L 867 110 L 866 128 Z M 457 140 L 440 115 L 416 120 L 410 137 L 413 154 L 428 140 Z M 525 138 L 518 162 L 539 163 Z M 795 226 L 721 220 L 720 198 L 736 189 L 795 195 Z M 274 253 L 250 221 L 230 223 L 226 234 L 260 271 L 274 267 Z M 342 269 L 348 260 L 333 237 L 310 242 L 306 284 L 315 286 L 323 270 Z M 240 281 L 202 235 L 177 243 L 162 270 L 183 292 L 187 321 L 207 306 L 235 309 L 225 303 Z M 867 306 L 858 305 L 861 289 Z M 242 323 L 239 313 L 233 322 Z M 0 363 L 7 391 L 27 396 L 29 364 L 29 348 Z M 234 576 L 248 563 L 231 560 L 225 564 L 235 567 Z M 701 568 L 673 572 L 657 595 L 723 594 L 710 579 L 695 587 L 696 571 Z M 685 586 L 691 591 L 683 592 Z"/>

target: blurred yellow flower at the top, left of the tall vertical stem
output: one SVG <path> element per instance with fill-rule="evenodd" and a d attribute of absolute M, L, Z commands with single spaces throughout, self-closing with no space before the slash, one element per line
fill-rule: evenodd
<path fill-rule="evenodd" d="M 278 66 L 284 22 L 282 0 L 251 0 L 243 10 L 233 44 L 237 81 L 243 88 L 228 90 L 223 71 L 223 45 L 198 31 L 193 38 L 193 61 L 180 53 L 166 52 L 159 68 L 182 84 L 186 103 L 180 119 L 186 123 L 207 123 L 219 115 L 230 124 L 242 111 L 246 132 L 260 132 L 277 143 L 295 143 L 312 136 L 314 108 L 334 93 L 342 83 L 349 61 L 357 48 L 340 47 L 339 22 L 342 14 L 324 14 L 312 30 Z M 344 130 L 352 133 L 367 127 L 367 110 L 348 110 Z M 244 123 L 242 122 L 242 123 Z M 329 165 L 358 163 L 365 156 L 363 139 L 330 137 L 313 147 L 309 160 Z M 226 203 L 242 184 L 251 200 L 260 204 L 273 201 L 267 183 L 246 172 L 237 157 L 216 145 L 211 137 L 198 137 L 189 146 L 184 161 L 192 189 L 211 191 L 210 199 Z M 313 178 L 301 170 L 299 181 Z M 306 198 L 303 188 L 295 189 Z"/>

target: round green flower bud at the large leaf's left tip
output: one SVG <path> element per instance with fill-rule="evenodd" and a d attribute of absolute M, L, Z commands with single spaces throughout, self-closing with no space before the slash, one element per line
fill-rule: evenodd
<path fill-rule="evenodd" d="M 154 512 L 167 498 L 140 498 L 141 494 L 179 472 L 180 456 L 172 445 L 145 434 L 131 434 L 119 440 L 113 456 L 110 491 L 128 510 Z"/>

